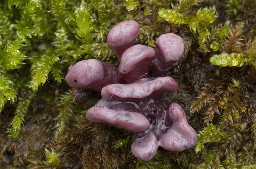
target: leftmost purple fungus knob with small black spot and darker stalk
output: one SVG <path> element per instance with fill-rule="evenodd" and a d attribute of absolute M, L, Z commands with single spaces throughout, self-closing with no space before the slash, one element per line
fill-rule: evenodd
<path fill-rule="evenodd" d="M 120 82 L 121 74 L 111 64 L 102 63 L 96 59 L 88 59 L 73 65 L 65 79 L 70 87 L 80 90 L 101 91 L 105 85 Z"/>

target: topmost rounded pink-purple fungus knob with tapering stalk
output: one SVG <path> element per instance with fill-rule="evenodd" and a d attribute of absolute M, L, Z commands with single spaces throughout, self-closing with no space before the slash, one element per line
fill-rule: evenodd
<path fill-rule="evenodd" d="M 115 25 L 108 33 L 108 45 L 116 51 L 119 62 L 123 52 L 134 45 L 139 32 L 139 24 L 134 20 L 127 20 Z"/>

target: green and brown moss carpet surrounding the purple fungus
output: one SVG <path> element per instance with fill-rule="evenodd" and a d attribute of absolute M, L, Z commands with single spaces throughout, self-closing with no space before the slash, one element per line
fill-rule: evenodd
<path fill-rule="evenodd" d="M 0 168 L 256 167 L 255 0 L 1 0 Z M 170 70 L 179 83 L 166 99 L 186 112 L 198 142 L 184 152 L 159 148 L 151 161 L 131 153 L 132 134 L 87 121 L 64 81 L 94 58 L 118 65 L 108 31 L 136 20 L 136 43 L 183 37 Z M 242 21 L 242 22 L 241 22 Z"/>

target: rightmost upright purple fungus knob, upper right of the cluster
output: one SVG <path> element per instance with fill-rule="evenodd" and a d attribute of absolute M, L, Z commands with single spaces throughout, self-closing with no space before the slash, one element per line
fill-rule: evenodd
<path fill-rule="evenodd" d="M 176 34 L 162 34 L 156 40 L 156 59 L 153 73 L 155 76 L 165 75 L 172 65 L 177 64 L 184 52 L 183 39 Z"/>

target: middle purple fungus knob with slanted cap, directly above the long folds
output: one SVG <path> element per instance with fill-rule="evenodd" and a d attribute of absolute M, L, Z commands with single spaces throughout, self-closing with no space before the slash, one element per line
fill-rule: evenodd
<path fill-rule="evenodd" d="M 134 45 L 123 54 L 118 67 L 124 82 L 132 83 L 149 76 L 149 65 L 154 57 L 154 49 L 145 45 Z"/>

